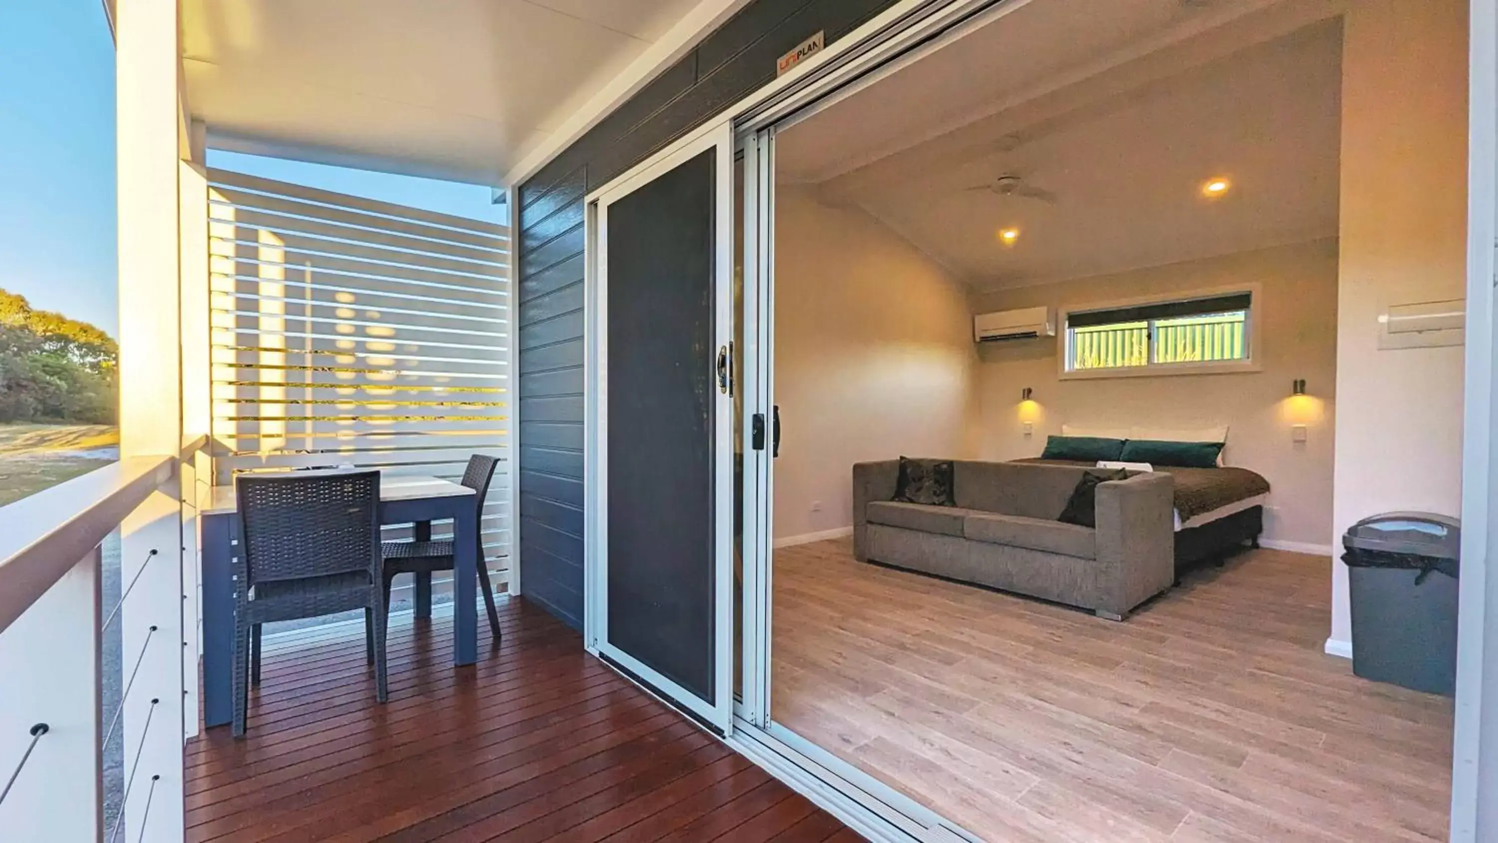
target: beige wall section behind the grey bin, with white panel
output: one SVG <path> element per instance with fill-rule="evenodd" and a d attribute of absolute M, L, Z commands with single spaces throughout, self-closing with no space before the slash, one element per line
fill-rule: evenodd
<path fill-rule="evenodd" d="M 1359 0 L 1342 49 L 1332 541 L 1375 512 L 1461 511 L 1462 349 L 1377 341 L 1389 304 L 1464 295 L 1467 1 Z M 1327 648 L 1350 651 L 1350 635 L 1336 563 Z"/>

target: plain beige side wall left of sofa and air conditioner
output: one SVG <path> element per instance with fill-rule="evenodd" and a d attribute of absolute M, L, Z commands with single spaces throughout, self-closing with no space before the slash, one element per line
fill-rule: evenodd
<path fill-rule="evenodd" d="M 777 187 L 774 250 L 785 539 L 851 527 L 857 461 L 972 455 L 977 352 L 966 287 L 869 214 Z"/>

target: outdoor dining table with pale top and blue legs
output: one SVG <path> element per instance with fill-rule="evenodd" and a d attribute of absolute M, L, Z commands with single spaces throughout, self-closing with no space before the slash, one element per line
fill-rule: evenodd
<path fill-rule="evenodd" d="M 297 472 L 297 476 L 328 472 Z M 202 518 L 202 710 L 207 726 L 234 719 L 234 554 L 240 517 L 232 485 L 213 487 Z M 382 524 L 452 520 L 452 665 L 478 660 L 478 511 L 473 490 L 440 478 L 382 473 Z M 430 590 L 425 591 L 430 600 Z"/>

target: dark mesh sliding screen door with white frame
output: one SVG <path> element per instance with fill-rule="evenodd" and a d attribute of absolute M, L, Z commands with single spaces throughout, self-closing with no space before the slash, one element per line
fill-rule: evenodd
<path fill-rule="evenodd" d="M 727 144 L 727 132 L 685 144 L 605 192 L 596 216 L 596 322 L 607 335 L 599 651 L 724 731 L 733 713 Z"/>

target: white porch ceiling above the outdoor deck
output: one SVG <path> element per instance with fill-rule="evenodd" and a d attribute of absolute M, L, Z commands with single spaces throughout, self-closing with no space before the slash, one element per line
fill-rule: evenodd
<path fill-rule="evenodd" d="M 213 145 L 500 184 L 698 0 L 187 0 Z"/>

